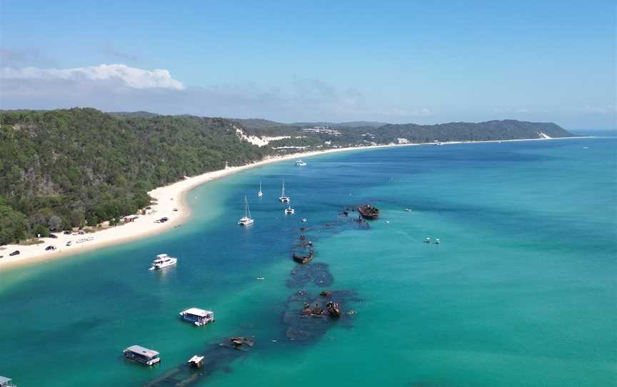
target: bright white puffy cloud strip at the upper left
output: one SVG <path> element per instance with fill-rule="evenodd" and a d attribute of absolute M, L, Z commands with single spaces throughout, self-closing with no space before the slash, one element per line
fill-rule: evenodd
<path fill-rule="evenodd" d="M 131 89 L 183 90 L 181 81 L 171 78 L 169 71 L 136 69 L 125 64 L 99 64 L 99 66 L 76 67 L 75 69 L 39 69 L 26 67 L 0 69 L 0 79 L 64 80 L 64 81 L 119 81 Z"/>

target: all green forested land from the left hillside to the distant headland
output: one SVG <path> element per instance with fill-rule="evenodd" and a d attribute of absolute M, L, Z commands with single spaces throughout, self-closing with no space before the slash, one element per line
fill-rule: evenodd
<path fill-rule="evenodd" d="M 321 124 L 321 123 L 314 123 Z M 362 124 L 363 126 L 348 126 Z M 280 124 L 260 119 L 104 114 L 95 109 L 0 112 L 0 245 L 101 221 L 114 223 L 150 203 L 148 191 L 184 176 L 257 161 L 269 154 L 340 146 L 571 136 L 556 124 Z M 323 126 L 323 125 L 321 125 Z M 254 136 L 289 136 L 259 147 Z"/>

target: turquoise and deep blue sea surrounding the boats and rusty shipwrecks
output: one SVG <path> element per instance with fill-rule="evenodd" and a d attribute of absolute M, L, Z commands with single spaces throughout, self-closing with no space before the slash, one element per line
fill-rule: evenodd
<path fill-rule="evenodd" d="M 0 375 L 20 387 L 140 386 L 250 334 L 251 351 L 194 385 L 617 385 L 616 152 L 614 138 L 418 146 L 214 181 L 191 191 L 194 216 L 169 233 L 0 273 Z M 282 179 L 295 216 L 276 201 Z M 246 230 L 235 224 L 244 194 L 256 219 Z M 380 220 L 338 226 L 364 201 Z M 353 326 L 290 343 L 281 315 L 299 289 L 286 280 L 302 217 L 328 288 L 361 301 Z M 442 243 L 422 243 L 429 235 Z M 161 252 L 179 265 L 147 271 Z M 190 306 L 216 323 L 179 322 Z M 161 365 L 124 361 L 134 343 L 161 351 Z"/>

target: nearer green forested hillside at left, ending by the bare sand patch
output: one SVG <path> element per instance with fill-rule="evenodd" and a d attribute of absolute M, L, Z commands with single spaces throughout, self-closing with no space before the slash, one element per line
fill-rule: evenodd
<path fill-rule="evenodd" d="M 234 123 L 121 119 L 94 109 L 0 114 L 0 245 L 96 225 L 147 206 L 156 186 L 262 159 Z"/>

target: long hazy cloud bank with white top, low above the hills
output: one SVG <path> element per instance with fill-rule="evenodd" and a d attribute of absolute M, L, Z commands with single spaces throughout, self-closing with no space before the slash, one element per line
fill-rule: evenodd
<path fill-rule="evenodd" d="M 162 114 L 264 117 L 277 121 L 426 121 L 426 108 L 373 105 L 363 91 L 339 88 L 320 79 L 296 77 L 277 87 L 255 82 L 185 86 L 169 71 L 147 71 L 125 64 L 76 69 L 0 68 L 0 109 L 61 109 L 75 106 L 103 111 L 146 110 Z"/>

